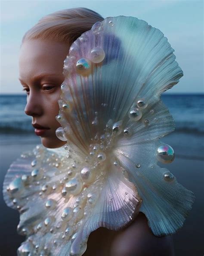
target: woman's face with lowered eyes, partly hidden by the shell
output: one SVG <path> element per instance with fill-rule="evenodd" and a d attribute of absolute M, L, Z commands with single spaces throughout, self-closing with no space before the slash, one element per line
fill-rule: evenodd
<path fill-rule="evenodd" d="M 40 39 L 25 41 L 20 50 L 19 80 L 27 93 L 25 113 L 32 116 L 35 133 L 49 148 L 65 144 L 56 137 L 55 131 L 60 126 L 56 121 L 57 101 L 64 81 L 63 61 L 68 50 L 65 43 Z"/>

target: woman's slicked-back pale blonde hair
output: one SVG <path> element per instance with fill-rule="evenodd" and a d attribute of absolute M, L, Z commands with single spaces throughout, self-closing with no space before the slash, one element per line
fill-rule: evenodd
<path fill-rule="evenodd" d="M 60 10 L 41 18 L 25 33 L 22 43 L 41 39 L 71 45 L 83 32 L 90 30 L 94 23 L 102 20 L 99 13 L 87 8 Z"/>

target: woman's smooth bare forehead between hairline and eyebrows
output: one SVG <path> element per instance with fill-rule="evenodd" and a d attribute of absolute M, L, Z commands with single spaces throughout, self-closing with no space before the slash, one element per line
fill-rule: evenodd
<path fill-rule="evenodd" d="M 19 54 L 19 78 L 28 79 L 42 72 L 62 74 L 68 50 L 68 45 L 61 42 L 25 41 Z"/>

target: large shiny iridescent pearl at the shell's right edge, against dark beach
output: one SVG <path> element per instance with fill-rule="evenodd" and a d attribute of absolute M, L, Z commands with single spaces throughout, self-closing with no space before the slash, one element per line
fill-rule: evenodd
<path fill-rule="evenodd" d="M 156 155 L 161 163 L 172 163 L 175 158 L 174 150 L 168 144 L 159 146 Z"/>

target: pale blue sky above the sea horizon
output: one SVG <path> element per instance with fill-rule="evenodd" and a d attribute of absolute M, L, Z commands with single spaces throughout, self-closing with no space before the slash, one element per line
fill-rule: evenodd
<path fill-rule="evenodd" d="M 0 93 L 23 93 L 18 58 L 25 32 L 41 17 L 75 7 L 92 9 L 104 18 L 134 16 L 160 29 L 184 73 L 179 83 L 165 93 L 204 93 L 203 0 L 0 0 Z"/>

